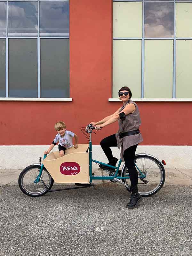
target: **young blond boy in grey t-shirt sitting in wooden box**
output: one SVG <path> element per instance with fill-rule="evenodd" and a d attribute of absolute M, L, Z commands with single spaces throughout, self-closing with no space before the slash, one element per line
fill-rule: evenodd
<path fill-rule="evenodd" d="M 49 154 L 49 152 L 54 148 L 54 146 L 59 141 L 59 153 L 60 156 L 65 155 L 65 149 L 73 147 L 73 137 L 75 138 L 75 145 L 74 148 L 78 148 L 78 137 L 75 133 L 67 131 L 66 125 L 63 122 L 57 122 L 55 124 L 55 130 L 57 131 L 57 135 L 53 140 L 51 146 L 48 150 L 45 150 L 44 154 Z"/>

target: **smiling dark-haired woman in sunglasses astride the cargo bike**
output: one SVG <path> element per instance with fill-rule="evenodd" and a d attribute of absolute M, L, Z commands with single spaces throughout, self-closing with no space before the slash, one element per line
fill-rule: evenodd
<path fill-rule="evenodd" d="M 139 127 L 141 124 L 139 108 L 131 99 L 132 92 L 129 87 L 122 87 L 119 92 L 119 98 L 123 101 L 123 106 L 113 115 L 106 116 L 99 122 L 91 122 L 96 130 L 100 130 L 108 124 L 118 121 L 119 130 L 116 134 L 110 135 L 101 140 L 100 145 L 108 158 L 109 165 L 116 165 L 118 159 L 113 157 L 110 147 L 121 148 L 121 159 L 125 162 L 131 181 L 131 199 L 127 208 L 135 208 L 142 200 L 138 192 L 138 173 L 134 165 L 135 151 L 143 138 Z M 101 168 L 105 168 L 100 165 Z"/>

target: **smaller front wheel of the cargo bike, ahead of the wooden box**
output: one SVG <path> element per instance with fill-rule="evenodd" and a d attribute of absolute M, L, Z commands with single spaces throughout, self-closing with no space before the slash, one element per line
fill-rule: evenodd
<path fill-rule="evenodd" d="M 40 165 L 29 165 L 26 167 L 19 175 L 19 187 L 21 191 L 28 196 L 43 196 L 47 193 L 46 188 L 44 187 L 41 180 L 35 183 L 37 176 L 39 175 L 41 166 Z M 44 167 L 41 178 L 47 186 L 48 190 L 50 190 L 53 186 L 53 178 Z"/>

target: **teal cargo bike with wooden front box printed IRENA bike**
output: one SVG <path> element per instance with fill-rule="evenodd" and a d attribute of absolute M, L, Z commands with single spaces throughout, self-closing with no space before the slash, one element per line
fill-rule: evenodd
<path fill-rule="evenodd" d="M 19 187 L 28 196 L 43 196 L 47 192 L 88 188 L 93 180 L 110 180 L 118 182 L 130 192 L 129 172 L 125 164 L 120 170 L 122 160 L 117 166 L 108 165 L 92 159 L 92 124 L 82 127 L 81 131 L 89 140 L 89 144 L 79 144 L 78 148 L 69 148 L 60 157 L 59 152 L 52 152 L 38 164 L 26 167 L 19 176 Z M 106 166 L 103 170 L 106 176 L 96 176 L 92 173 L 92 162 Z M 135 155 L 135 167 L 138 171 L 138 189 L 141 196 L 152 196 L 164 185 L 165 161 L 146 153 Z M 110 168 L 110 169 L 109 169 Z M 53 183 L 75 183 L 75 187 L 52 189 Z"/>

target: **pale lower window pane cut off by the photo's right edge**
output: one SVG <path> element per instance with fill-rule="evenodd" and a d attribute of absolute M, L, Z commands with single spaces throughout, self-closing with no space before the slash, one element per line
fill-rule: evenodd
<path fill-rule="evenodd" d="M 192 41 L 177 40 L 176 98 L 192 98 Z"/>

